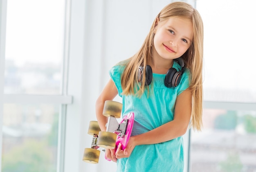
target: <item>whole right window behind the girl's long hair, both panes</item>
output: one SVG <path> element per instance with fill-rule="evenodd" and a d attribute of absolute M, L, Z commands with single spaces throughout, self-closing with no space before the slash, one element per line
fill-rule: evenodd
<path fill-rule="evenodd" d="M 256 171 L 255 5 L 196 1 L 204 21 L 204 127 L 191 132 L 191 172 Z"/>

